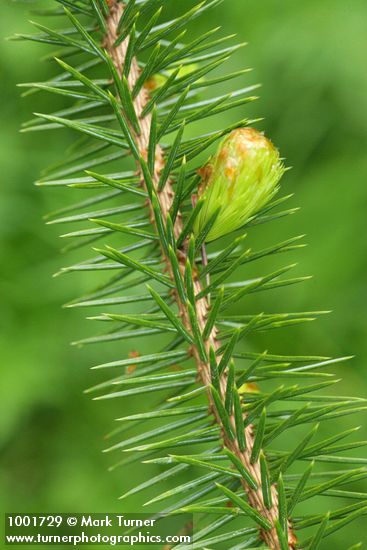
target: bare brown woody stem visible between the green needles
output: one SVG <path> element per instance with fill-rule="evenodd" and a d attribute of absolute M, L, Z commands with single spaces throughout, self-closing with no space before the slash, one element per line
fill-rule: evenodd
<path fill-rule="evenodd" d="M 123 13 L 124 5 L 122 3 L 117 3 L 116 0 L 111 0 L 109 4 L 110 4 L 110 15 L 107 18 L 108 33 L 105 37 L 104 46 L 106 47 L 109 55 L 111 56 L 114 62 L 114 65 L 116 67 L 116 70 L 121 76 L 122 70 L 124 67 L 126 51 L 129 43 L 129 37 L 127 37 L 117 47 L 114 46 L 114 43 L 118 38 L 117 26 L 121 18 L 121 15 Z M 140 69 L 139 69 L 137 60 L 134 58 L 131 63 L 130 73 L 128 76 L 128 83 L 129 83 L 130 89 L 134 87 L 139 76 L 140 76 Z M 146 116 L 142 117 L 142 112 L 145 105 L 149 101 L 149 99 L 150 99 L 149 91 L 145 87 L 142 87 L 141 91 L 137 95 L 134 102 L 136 115 L 140 122 L 140 133 L 137 134 L 134 131 L 134 129 L 131 128 L 131 132 L 135 138 L 136 145 L 143 158 L 147 157 L 150 127 L 151 127 L 151 115 L 147 114 Z M 156 188 L 157 197 L 160 202 L 163 220 L 166 220 L 174 199 L 174 190 L 172 187 L 172 183 L 170 181 L 167 182 L 167 184 L 161 191 L 158 190 L 159 176 L 162 172 L 162 169 L 164 168 L 164 162 L 165 161 L 164 161 L 163 150 L 159 145 L 157 145 L 156 153 L 155 153 L 155 167 L 154 167 L 154 173 L 153 173 L 152 179 L 153 179 L 154 186 Z M 143 178 L 140 165 L 138 165 L 137 168 L 141 176 L 142 184 L 144 185 L 144 178 Z M 153 214 L 151 204 L 149 204 L 149 209 L 150 209 L 150 218 L 152 220 L 152 223 L 154 223 L 154 214 Z M 176 237 L 180 235 L 182 229 L 183 229 L 182 217 L 180 214 L 178 214 L 174 225 L 174 232 Z M 162 254 L 164 256 L 167 270 L 173 279 L 172 268 L 171 268 L 169 258 L 166 257 L 163 251 L 162 251 Z M 184 271 L 185 263 L 186 263 L 185 247 L 183 247 L 183 250 L 179 255 L 179 262 L 180 262 L 182 271 Z M 194 290 L 196 295 L 202 291 L 201 282 L 197 277 L 194 279 Z M 191 323 L 190 323 L 189 313 L 187 309 L 187 304 L 183 303 L 177 294 L 175 294 L 175 299 L 179 308 L 181 319 L 185 327 L 187 328 L 187 330 L 191 331 Z M 197 300 L 196 302 L 197 319 L 198 319 L 199 327 L 202 331 L 205 327 L 209 309 L 210 309 L 210 305 L 206 297 Z M 215 351 L 218 351 L 221 346 L 217 338 L 217 334 L 218 334 L 218 330 L 216 327 L 214 327 L 211 331 L 211 334 L 208 336 L 205 342 L 208 355 L 209 355 L 210 347 L 214 348 Z M 215 417 L 216 422 L 221 428 L 223 446 L 229 449 L 232 453 L 234 453 L 237 456 L 237 458 L 242 462 L 242 464 L 245 466 L 245 468 L 248 470 L 248 472 L 250 473 L 250 475 L 258 485 L 258 489 L 254 490 L 248 485 L 245 479 L 242 479 L 242 485 L 244 490 L 247 493 L 249 504 L 253 508 L 255 508 L 264 518 L 266 518 L 272 525 L 272 528 L 269 530 L 264 530 L 264 529 L 261 530 L 261 537 L 271 550 L 281 550 L 276 529 L 274 527 L 275 521 L 278 519 L 278 516 L 279 516 L 278 494 L 277 494 L 276 485 L 273 485 L 271 487 L 272 507 L 270 509 L 267 509 L 264 504 L 264 499 L 263 499 L 263 494 L 261 489 L 260 463 L 259 461 L 257 461 L 254 464 L 252 464 L 250 460 L 253 445 L 254 445 L 254 427 L 251 424 L 246 427 L 245 435 L 246 435 L 247 446 L 245 451 L 241 451 L 237 439 L 234 438 L 233 440 L 231 440 L 227 436 L 226 430 L 222 425 L 221 418 L 218 415 L 216 407 L 214 405 L 213 398 L 210 391 L 211 371 L 210 371 L 209 362 L 202 361 L 196 346 L 192 347 L 192 354 L 197 364 L 199 377 L 202 383 L 208 388 L 207 394 L 208 394 L 208 399 L 210 403 L 210 409 Z M 223 402 L 224 402 L 224 395 L 226 392 L 226 378 L 227 378 L 227 373 L 225 372 L 221 376 L 221 381 L 220 381 L 220 390 L 221 390 L 220 397 L 221 399 L 223 399 Z M 233 427 L 233 432 L 235 433 L 235 419 L 233 414 L 230 417 L 230 422 Z M 294 535 L 291 524 L 289 524 L 288 544 L 290 549 L 293 550 L 295 548 L 296 540 L 297 539 Z"/>

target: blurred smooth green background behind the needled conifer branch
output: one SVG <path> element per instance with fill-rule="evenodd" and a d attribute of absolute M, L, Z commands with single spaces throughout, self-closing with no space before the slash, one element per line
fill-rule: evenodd
<path fill-rule="evenodd" d="M 169 9 L 172 4 L 167 2 Z M 96 382 L 91 365 L 116 357 L 116 350 L 122 357 L 129 347 L 69 346 L 95 330 L 84 321 L 83 311 L 61 309 L 87 283 L 72 275 L 52 278 L 68 259 L 60 255 L 57 228 L 46 227 L 42 216 L 66 204 L 66 198 L 33 186 L 45 165 L 62 158 L 73 136 L 18 132 L 30 112 L 48 112 L 54 100 L 41 95 L 21 100 L 15 88 L 17 82 L 49 74 L 48 64 L 39 62 L 47 47 L 4 41 L 14 32 L 31 32 L 27 19 L 32 6 L 8 0 L 0 4 L 2 509 L 127 511 L 117 497 L 131 487 L 135 472 L 108 473 L 119 457 L 101 452 L 122 405 L 93 402 L 82 392 Z M 236 32 L 249 42 L 231 61 L 236 69 L 254 67 L 244 85 L 263 85 L 260 101 L 235 116 L 265 117 L 259 127 L 293 167 L 283 190 L 295 192 L 292 205 L 302 207 L 297 215 L 259 230 L 251 243 L 260 246 L 306 233 L 309 246 L 285 261 L 299 260 L 298 272 L 315 276 L 302 287 L 260 293 L 251 308 L 333 310 L 302 328 L 263 333 L 253 345 L 275 352 L 355 354 L 348 366 L 339 367 L 343 382 L 334 391 L 366 395 L 366 2 L 227 0 L 207 20 L 196 20 L 191 31 L 196 35 L 218 24 L 224 33 Z M 218 127 L 218 119 L 211 124 Z M 273 269 L 278 265 L 274 260 Z M 126 414 L 128 407 L 124 405 Z M 362 416 L 360 422 L 364 420 Z M 348 428 L 350 422 L 347 417 L 340 423 Z M 345 550 L 358 540 L 366 541 L 363 521 L 330 539 L 325 548 Z"/>

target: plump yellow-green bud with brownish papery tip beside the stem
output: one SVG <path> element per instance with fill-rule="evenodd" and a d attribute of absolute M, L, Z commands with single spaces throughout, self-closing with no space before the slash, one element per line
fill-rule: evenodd
<path fill-rule="evenodd" d="M 278 191 L 284 173 L 279 152 L 254 128 L 238 128 L 220 144 L 201 170 L 199 197 L 204 199 L 194 225 L 199 235 L 214 213 L 219 214 L 206 241 L 239 229 Z"/>

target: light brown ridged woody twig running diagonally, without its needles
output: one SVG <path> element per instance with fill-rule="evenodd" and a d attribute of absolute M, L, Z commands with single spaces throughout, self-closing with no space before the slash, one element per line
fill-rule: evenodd
<path fill-rule="evenodd" d="M 115 68 L 120 78 L 122 78 L 124 67 L 125 67 L 126 55 L 129 49 L 129 41 L 131 38 L 127 36 L 121 43 L 119 43 L 116 46 L 116 42 L 118 41 L 118 38 L 119 38 L 118 25 L 119 25 L 119 21 L 121 20 L 125 6 L 122 3 L 117 2 L 116 0 L 110 1 L 109 5 L 110 5 L 110 14 L 106 22 L 107 34 L 105 36 L 105 47 L 109 55 L 113 59 L 113 63 L 115 65 Z M 141 76 L 141 70 L 139 68 L 137 59 L 134 57 L 131 60 L 130 71 L 127 77 L 129 89 L 131 92 L 134 90 L 136 83 L 139 81 L 140 76 Z M 130 127 L 131 133 L 134 136 L 139 153 L 145 162 L 148 161 L 149 138 L 151 135 L 152 115 L 151 113 L 148 113 L 145 115 L 143 113 L 145 111 L 146 106 L 149 104 L 150 99 L 151 98 L 150 98 L 149 90 L 145 87 L 145 85 L 143 85 L 134 100 L 134 110 L 136 113 L 136 117 L 139 121 L 139 131 L 137 132 L 136 128 L 134 128 L 133 126 Z M 164 170 L 164 166 L 165 166 L 165 158 L 164 158 L 163 150 L 161 146 L 157 144 L 155 147 L 154 170 L 152 171 L 151 179 L 154 186 L 154 192 L 156 193 L 156 196 L 159 201 L 159 205 L 161 207 L 163 222 L 164 222 L 164 225 L 166 226 L 167 217 L 169 216 L 170 209 L 174 202 L 175 192 L 172 186 L 172 182 L 170 180 L 168 180 L 167 184 L 164 186 L 163 189 L 161 190 L 159 189 L 160 177 Z M 146 174 L 144 173 L 144 169 L 142 168 L 141 162 L 139 162 L 139 160 L 137 161 L 137 168 L 138 168 L 139 177 L 141 179 L 142 185 L 146 187 L 146 181 L 145 181 Z M 149 199 L 148 199 L 148 205 L 150 210 L 150 219 L 152 223 L 156 225 L 154 209 L 152 206 L 152 202 Z M 174 235 L 176 238 L 178 238 L 183 231 L 182 216 L 179 211 L 176 215 L 176 219 L 173 227 L 174 227 Z M 188 242 L 186 238 L 185 242 L 182 243 L 182 246 L 177 251 L 177 259 L 180 266 L 182 277 L 184 277 L 185 266 L 188 260 L 187 249 L 188 249 Z M 164 251 L 163 247 L 162 247 L 162 254 L 164 257 L 165 265 L 167 267 L 167 271 L 170 274 L 171 280 L 175 281 L 171 260 L 167 255 L 167 253 Z M 193 276 L 194 294 L 195 296 L 198 296 L 202 294 L 203 287 L 202 287 L 201 281 L 197 276 L 195 266 L 192 266 L 192 267 L 193 267 L 193 275 L 194 275 Z M 187 307 L 187 302 L 182 300 L 182 298 L 179 296 L 179 293 L 177 292 L 176 289 L 172 290 L 172 294 L 177 302 L 183 325 L 185 326 L 188 332 L 191 332 L 192 326 L 190 321 L 190 313 Z M 210 311 L 210 304 L 206 296 L 203 296 L 202 298 L 196 301 L 196 315 L 197 315 L 197 321 L 199 324 L 199 330 L 201 334 L 205 330 L 205 325 L 209 316 L 209 311 Z M 216 419 L 217 424 L 221 428 L 223 447 L 224 449 L 227 449 L 234 456 L 234 460 L 233 460 L 234 466 L 239 468 L 240 471 L 244 471 L 247 473 L 247 478 L 242 477 L 241 483 L 248 495 L 248 502 L 250 506 L 254 510 L 256 510 L 261 517 L 264 518 L 264 524 L 261 528 L 261 537 L 264 540 L 264 542 L 269 546 L 269 548 L 271 548 L 272 550 L 282 550 L 282 547 L 279 542 L 279 536 L 277 533 L 277 527 L 276 527 L 276 522 L 279 519 L 278 492 L 277 492 L 276 484 L 272 484 L 269 488 L 271 492 L 272 504 L 270 507 L 266 506 L 266 502 L 264 499 L 264 488 L 262 486 L 262 476 L 261 476 L 261 466 L 260 466 L 259 456 L 256 457 L 255 461 L 251 459 L 251 456 L 254 451 L 255 441 L 256 441 L 255 428 L 252 424 L 248 424 L 246 428 L 245 427 L 243 428 L 244 440 L 246 441 L 246 448 L 244 450 L 241 450 L 240 443 L 238 441 L 238 436 L 234 435 L 236 434 L 236 420 L 235 420 L 235 413 L 234 413 L 233 406 L 231 407 L 230 413 L 228 415 L 228 423 L 225 422 L 223 416 L 221 416 L 219 412 L 221 410 L 224 411 L 226 387 L 227 387 L 227 381 L 228 381 L 228 368 L 226 367 L 225 371 L 222 373 L 222 376 L 220 377 L 218 391 L 216 391 L 212 387 L 209 356 L 210 356 L 210 350 L 213 349 L 215 351 L 215 357 L 218 364 L 222 359 L 222 355 L 221 354 L 218 355 L 217 353 L 222 346 L 221 342 L 218 340 L 217 335 L 218 335 L 218 330 L 216 326 L 213 326 L 204 342 L 207 360 L 203 360 L 202 353 L 200 352 L 200 349 L 196 344 L 193 344 L 191 346 L 191 353 L 195 357 L 200 380 L 207 388 L 208 399 L 210 402 L 210 409 Z M 213 398 L 213 392 L 215 392 L 219 402 L 216 401 L 215 398 Z M 244 421 L 246 422 L 245 415 L 244 415 Z M 248 483 L 249 478 L 252 479 L 255 483 L 250 485 Z M 287 531 L 288 531 L 289 548 L 294 549 L 297 539 L 293 532 L 290 522 L 287 522 Z"/>

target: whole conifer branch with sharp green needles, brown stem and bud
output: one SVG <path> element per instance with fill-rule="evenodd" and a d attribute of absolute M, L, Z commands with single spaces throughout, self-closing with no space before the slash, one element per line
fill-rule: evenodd
<path fill-rule="evenodd" d="M 307 277 L 285 276 L 292 264 L 254 279 L 232 280 L 250 262 L 303 246 L 302 236 L 260 250 L 244 246 L 244 231 L 296 211 L 283 208 L 289 196 L 275 197 L 285 168 L 271 141 L 248 127 L 256 121 L 243 119 L 209 133 L 204 128 L 189 139 L 184 135 L 192 124 L 256 99 L 249 95 L 256 86 L 202 97 L 204 90 L 215 90 L 246 72 L 210 76 L 241 46 L 227 46 L 232 37 L 218 38 L 218 29 L 184 40 L 189 23 L 221 0 L 202 0 L 172 20 L 162 15 L 163 0 L 68 0 L 66 9 L 59 6 L 63 0 L 54 2 L 53 9 L 38 15 L 57 15 L 68 27 L 34 23 L 36 34 L 15 39 L 57 47 L 51 57 L 60 72 L 45 82 L 21 86 L 28 88 L 25 96 L 48 92 L 70 104 L 36 114 L 22 131 L 64 127 L 82 136 L 37 182 L 90 193 L 47 217 L 47 223 L 73 224 L 72 231 L 61 235 L 71 239 L 64 251 L 94 250 L 92 257 L 57 275 L 110 274 L 67 307 L 122 308 L 94 314 L 91 319 L 103 322 L 107 331 L 74 344 L 157 337 L 157 349 L 143 355 L 133 350 L 127 357 L 95 365 L 118 374 L 87 390 L 97 392 L 94 399 L 163 392 L 149 410 L 142 407 L 119 418 L 122 424 L 111 434 L 134 431 L 106 449 L 128 453 L 114 467 L 135 460 L 167 465 L 121 498 L 157 489 L 163 480 L 190 468 L 194 479 L 156 491 L 145 504 L 172 499 L 163 513 L 200 513 L 199 525 L 204 525 L 194 534 L 194 548 L 225 541 L 231 550 L 316 550 L 325 537 L 367 510 L 367 493 L 346 487 L 367 477 L 366 459 L 338 455 L 366 442 L 344 441 L 355 428 L 338 432 L 334 422 L 334 430 L 322 435 L 318 425 L 329 427 L 330 420 L 366 410 L 366 400 L 323 392 L 338 382 L 327 369 L 348 357 L 238 350 L 241 339 L 252 332 L 291 327 L 326 312 L 231 312 L 250 294 L 282 289 Z M 197 157 L 217 140 L 217 152 L 204 166 L 198 164 Z M 125 161 L 135 163 L 133 169 L 122 171 Z M 99 167 L 104 167 L 102 173 Z M 82 228 L 75 230 L 75 224 Z M 206 243 L 235 232 L 241 236 L 219 251 L 204 250 Z M 122 248 L 107 242 L 99 246 L 100 239 L 111 237 L 121 243 L 121 233 L 128 239 Z M 126 312 L 126 306 L 133 312 Z M 163 347 L 161 336 L 166 339 Z M 154 426 L 145 429 L 146 420 Z M 288 437 L 289 449 L 273 446 L 293 429 L 304 434 L 297 441 Z M 200 446 L 199 454 L 186 455 L 194 445 Z M 182 447 L 179 454 L 176 449 Z M 306 467 L 300 474 L 289 473 L 294 464 Z M 339 469 L 334 471 L 335 464 Z M 209 493 L 214 494 L 208 498 Z M 300 503 L 321 495 L 356 502 L 328 514 L 294 512 Z M 213 514 L 220 518 L 213 520 Z M 218 533 L 224 524 L 242 518 L 255 526 L 246 523 Z M 309 527 L 315 527 L 314 533 L 298 542 L 299 533 Z M 240 544 L 232 546 L 240 537 Z M 182 545 L 178 550 L 184 550 Z"/>

